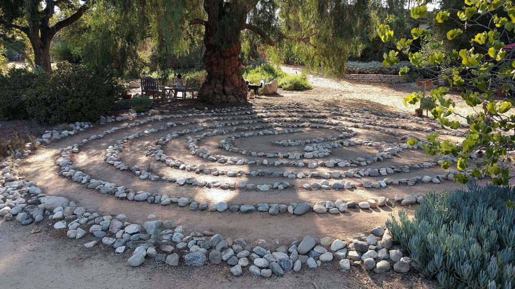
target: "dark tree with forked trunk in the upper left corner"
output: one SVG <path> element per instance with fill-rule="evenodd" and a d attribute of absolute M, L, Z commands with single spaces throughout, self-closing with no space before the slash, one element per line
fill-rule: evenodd
<path fill-rule="evenodd" d="M 50 43 L 54 35 L 77 21 L 88 10 L 90 0 L 4 0 L 0 2 L 0 30 L 8 34 L 12 29 L 27 35 L 34 51 L 34 62 L 46 71 L 50 66 Z M 59 21 L 55 13 L 66 15 Z M 51 23 L 55 22 L 54 25 Z"/>

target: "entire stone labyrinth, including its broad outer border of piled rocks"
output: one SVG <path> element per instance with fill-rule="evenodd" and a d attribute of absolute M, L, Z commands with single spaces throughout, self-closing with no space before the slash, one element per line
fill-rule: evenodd
<path fill-rule="evenodd" d="M 124 213 L 124 220 L 139 223 L 147 221 L 147 216 L 175 222 L 161 225 L 169 231 L 165 235 L 175 242 L 176 251 L 171 245 L 158 246 L 165 254 L 161 261 L 170 265 L 178 264 L 177 250 L 189 251 L 186 256 L 201 251 L 204 262 L 209 255 L 212 263 L 218 262 L 217 251 L 224 261 L 232 260 L 228 262 L 233 266 L 231 272 L 239 275 L 242 266 L 249 265 L 249 255 L 239 253 L 252 251 L 250 273 L 270 276 L 270 270 L 270 274 L 280 275 L 278 272 L 292 269 L 293 262 L 297 264 L 297 258 L 291 256 L 293 261 L 282 261 L 283 255 L 293 254 L 290 250 L 295 245 L 299 250 L 293 251 L 304 256 L 301 263 L 307 262 L 310 268 L 333 256 L 355 261 L 372 258 L 373 265 L 368 261 L 365 266 L 380 273 L 386 264 L 380 266 L 380 261 L 376 266 L 374 252 L 389 249 L 391 244 L 380 244 L 385 233 L 377 225 L 384 224 L 396 203 L 409 209 L 423 201 L 427 190 L 441 191 L 445 183 L 447 188 L 453 186 L 456 172 L 439 165 L 444 159 L 455 159 L 427 156 L 421 149 L 423 141 L 414 147 L 406 145 L 407 139 L 423 140 L 435 131 L 453 141 L 463 137 L 459 132 L 440 131 L 434 122 L 403 114 L 320 110 L 299 103 L 133 113 L 116 120 L 103 118 L 94 125 L 77 124 L 71 133 L 45 134 L 41 142 L 47 146 L 24 159 L 20 171 L 41 188 L 32 191 L 70 198 L 80 208 L 94 208 L 95 213 L 68 210 L 66 216 L 57 206 L 52 208 L 57 212 L 48 213 L 53 220 L 60 220 L 56 215 L 79 220 L 80 214 L 83 223 L 76 222 L 97 224 L 90 232 L 113 245 L 116 252 L 122 243 L 146 238 L 140 233 L 141 226 L 127 229 L 130 223 L 116 221 L 118 227 L 111 228 L 113 218 L 118 220 L 116 215 Z M 4 166 L 4 172 L 5 184 L 17 179 L 8 167 Z M 42 203 L 44 194 L 39 195 Z M 94 215 L 97 211 L 109 215 L 102 219 Z M 84 214 L 89 218 L 84 219 Z M 58 227 L 75 230 L 71 236 L 76 238 L 79 228 L 72 223 Z M 155 236 L 156 224 L 145 223 L 148 238 Z M 178 224 L 181 226 L 176 227 Z M 186 236 L 184 228 L 197 233 Z M 116 236 L 106 237 L 108 229 Z M 356 237 L 370 231 L 373 235 Z M 221 242 L 221 235 L 214 232 L 239 240 L 234 240 L 236 248 L 228 248 L 232 239 Z M 328 237 L 309 239 L 307 234 Z M 213 236 L 210 242 L 208 236 Z M 248 243 L 237 238 L 260 246 L 243 250 Z M 361 241 L 350 243 L 347 254 L 347 243 L 337 238 Z M 280 265 L 265 260 L 268 254 L 263 247 L 270 247 L 267 242 L 272 240 L 275 246 L 294 241 L 289 249 L 279 247 L 273 252 L 280 255 L 274 256 Z M 318 248 L 320 245 L 331 247 L 331 256 L 327 249 Z M 131 265 L 141 264 L 146 254 L 156 256 L 153 251 L 143 254 L 135 243 L 131 246 L 133 257 L 139 256 L 129 261 Z M 148 245 L 145 249 L 149 246 L 153 248 Z M 216 248 L 208 254 L 212 246 Z M 358 253 L 352 253 L 354 249 Z M 367 258 L 362 258 L 362 253 L 368 254 Z M 202 259 L 197 255 L 185 256 L 186 264 Z M 391 260 L 397 264 L 400 257 Z M 257 261 L 263 264 L 256 264 L 256 259 L 263 259 Z M 340 267 L 348 269 L 349 262 L 340 262 Z"/>

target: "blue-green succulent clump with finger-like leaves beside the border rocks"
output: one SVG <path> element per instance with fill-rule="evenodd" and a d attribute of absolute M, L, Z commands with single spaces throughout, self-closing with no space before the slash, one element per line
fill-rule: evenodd
<path fill-rule="evenodd" d="M 386 222 L 412 265 L 443 288 L 513 288 L 515 189 L 469 183 L 469 191 L 428 193 L 408 219 Z"/>

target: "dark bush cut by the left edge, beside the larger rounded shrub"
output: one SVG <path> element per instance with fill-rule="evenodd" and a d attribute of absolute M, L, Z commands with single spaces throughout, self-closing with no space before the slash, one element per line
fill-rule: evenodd
<path fill-rule="evenodd" d="M 27 118 L 22 98 L 35 78 L 36 74 L 23 68 L 11 68 L 5 75 L 0 74 L 0 120 Z"/>

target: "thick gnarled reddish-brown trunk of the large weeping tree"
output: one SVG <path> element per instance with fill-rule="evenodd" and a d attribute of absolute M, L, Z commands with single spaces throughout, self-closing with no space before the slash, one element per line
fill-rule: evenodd
<path fill-rule="evenodd" d="M 208 75 L 199 92 L 203 102 L 247 102 L 247 85 L 242 77 L 239 34 L 245 25 L 246 12 L 238 5 L 224 5 L 223 0 L 204 0 L 208 12 L 205 23 L 205 53 L 202 58 Z"/>

